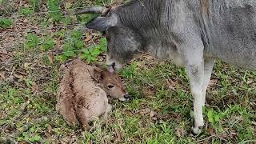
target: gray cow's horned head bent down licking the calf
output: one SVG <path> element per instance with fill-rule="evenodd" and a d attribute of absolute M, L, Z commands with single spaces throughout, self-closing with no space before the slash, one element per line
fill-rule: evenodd
<path fill-rule="evenodd" d="M 123 25 L 120 18 L 125 16 L 118 13 L 118 10 L 120 10 L 118 7 L 107 9 L 102 6 L 92 6 L 77 13 L 102 14 L 90 20 L 86 27 L 106 33 L 106 64 L 114 69 L 121 69 L 122 65 L 130 61 L 134 54 L 138 54 L 142 47 L 141 35 Z"/>

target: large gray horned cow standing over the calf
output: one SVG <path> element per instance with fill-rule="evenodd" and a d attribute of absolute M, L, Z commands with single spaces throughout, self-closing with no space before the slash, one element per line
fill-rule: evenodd
<path fill-rule="evenodd" d="M 194 134 L 204 125 L 202 106 L 214 60 L 256 70 L 255 0 L 133 0 L 82 13 L 102 14 L 86 27 L 106 32 L 107 65 L 120 69 L 146 51 L 185 66 L 194 97 Z"/>

